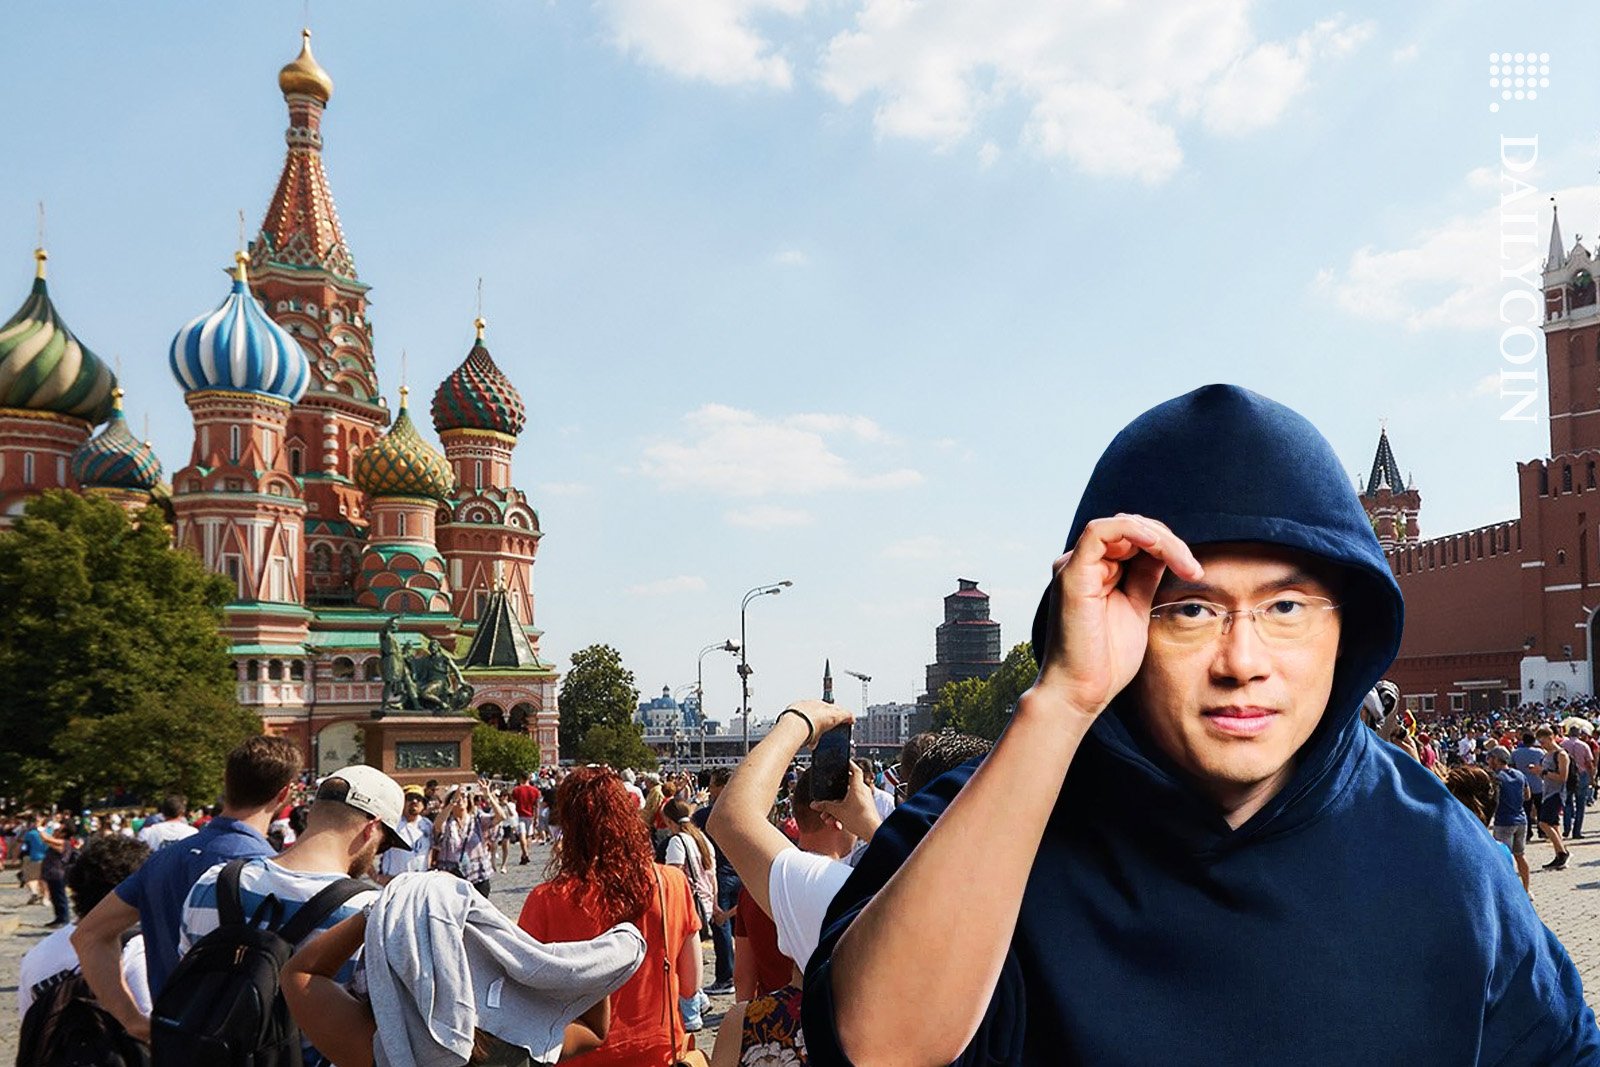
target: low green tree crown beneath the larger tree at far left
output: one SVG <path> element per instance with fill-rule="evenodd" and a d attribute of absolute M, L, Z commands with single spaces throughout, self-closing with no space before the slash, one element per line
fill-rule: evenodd
<path fill-rule="evenodd" d="M 53 774 L 34 789 L 82 798 L 184 793 L 208 805 L 222 793 L 227 753 L 259 733 L 259 715 L 208 689 L 146 694 L 126 712 L 69 720 L 54 737 Z"/>

